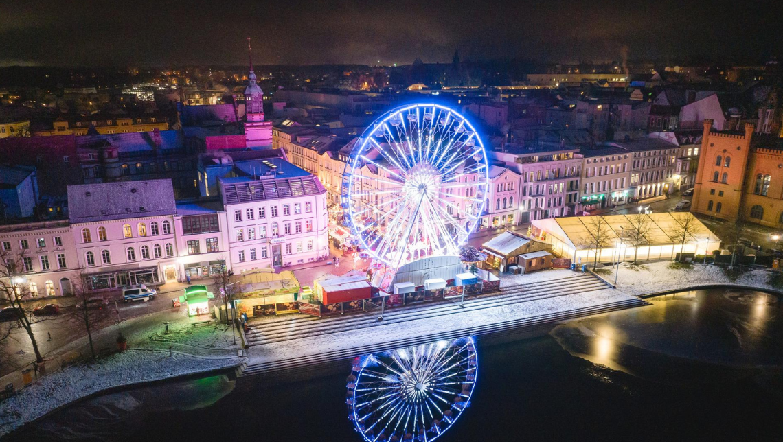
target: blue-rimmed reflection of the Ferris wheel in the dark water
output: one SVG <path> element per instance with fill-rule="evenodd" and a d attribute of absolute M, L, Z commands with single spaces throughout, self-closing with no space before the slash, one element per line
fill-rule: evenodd
<path fill-rule="evenodd" d="M 435 440 L 470 406 L 472 338 L 371 354 L 348 378 L 349 417 L 367 442 Z"/>

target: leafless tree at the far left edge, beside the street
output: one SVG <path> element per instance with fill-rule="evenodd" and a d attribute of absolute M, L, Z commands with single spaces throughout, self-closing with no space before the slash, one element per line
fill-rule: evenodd
<path fill-rule="evenodd" d="M 24 301 L 31 300 L 37 294 L 27 282 L 27 278 L 24 277 L 27 270 L 32 270 L 32 258 L 25 257 L 23 254 L 14 255 L 3 251 L 0 253 L 0 259 L 2 259 L 2 263 L 0 263 L 0 301 L 10 304 L 10 307 L 19 311 L 16 324 L 27 332 L 35 353 L 35 361 L 40 364 L 44 358 L 41 356 L 41 350 L 38 349 L 38 340 L 35 339 L 33 325 L 44 319 L 34 318 L 31 311 L 27 311 L 23 304 Z"/>

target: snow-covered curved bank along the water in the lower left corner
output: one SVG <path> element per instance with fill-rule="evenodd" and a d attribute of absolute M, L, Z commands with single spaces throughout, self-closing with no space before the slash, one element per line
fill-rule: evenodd
<path fill-rule="evenodd" d="M 244 358 L 199 358 L 157 350 L 128 350 L 94 364 L 81 363 L 45 376 L 0 403 L 0 437 L 24 423 L 82 397 L 117 386 L 209 372 L 240 365 Z"/>

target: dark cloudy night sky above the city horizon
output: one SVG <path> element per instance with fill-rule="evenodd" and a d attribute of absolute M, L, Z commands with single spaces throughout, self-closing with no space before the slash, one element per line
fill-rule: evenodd
<path fill-rule="evenodd" d="M 765 58 L 767 2 L 0 0 L 0 66 Z"/>

